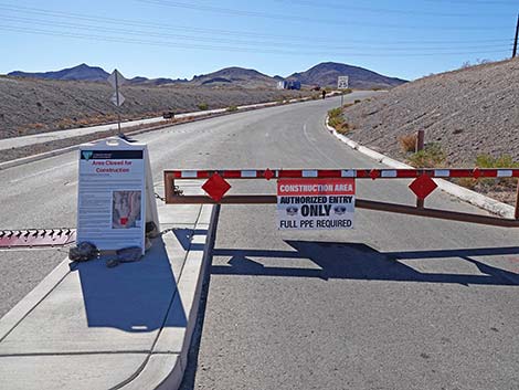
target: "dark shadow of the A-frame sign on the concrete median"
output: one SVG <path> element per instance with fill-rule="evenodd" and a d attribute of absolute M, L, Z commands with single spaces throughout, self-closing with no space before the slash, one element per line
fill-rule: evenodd
<path fill-rule="evenodd" d="M 153 240 L 149 252 L 136 263 L 108 270 L 105 260 L 77 267 L 88 327 L 145 333 L 187 326 L 182 304 L 172 307 L 178 281 L 162 239 Z M 168 317 L 169 310 L 174 315 Z"/>

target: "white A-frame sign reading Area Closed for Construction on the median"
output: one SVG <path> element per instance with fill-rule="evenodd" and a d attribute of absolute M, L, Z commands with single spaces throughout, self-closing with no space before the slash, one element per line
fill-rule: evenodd
<path fill-rule="evenodd" d="M 77 243 L 99 250 L 139 246 L 144 254 L 147 221 L 158 228 L 146 145 L 116 137 L 82 145 Z"/>

